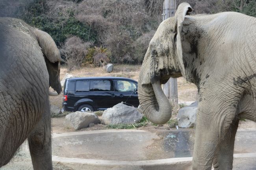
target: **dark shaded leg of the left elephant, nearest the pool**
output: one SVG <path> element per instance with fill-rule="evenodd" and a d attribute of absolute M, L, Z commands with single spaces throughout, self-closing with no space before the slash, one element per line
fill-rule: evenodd
<path fill-rule="evenodd" d="M 28 137 L 34 170 L 52 170 L 50 115 L 43 117 Z"/>

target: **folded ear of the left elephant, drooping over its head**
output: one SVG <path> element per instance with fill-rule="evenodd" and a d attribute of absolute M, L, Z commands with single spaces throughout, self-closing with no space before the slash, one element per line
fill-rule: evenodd
<path fill-rule="evenodd" d="M 59 49 L 48 33 L 38 29 L 33 30 L 33 32 L 45 57 L 45 63 L 49 74 L 49 84 L 59 94 L 62 91 L 59 80 L 61 61 Z"/>

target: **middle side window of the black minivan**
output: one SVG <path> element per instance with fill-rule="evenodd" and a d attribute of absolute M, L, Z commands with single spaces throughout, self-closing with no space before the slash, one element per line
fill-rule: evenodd
<path fill-rule="evenodd" d="M 111 82 L 109 80 L 91 80 L 90 91 L 111 91 Z"/>

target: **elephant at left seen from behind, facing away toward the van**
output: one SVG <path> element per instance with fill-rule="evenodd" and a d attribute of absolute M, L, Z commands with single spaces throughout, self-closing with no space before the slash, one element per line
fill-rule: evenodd
<path fill-rule="evenodd" d="M 0 18 L 0 167 L 28 138 L 34 170 L 52 170 L 51 86 L 61 92 L 60 53 L 50 35 Z"/>

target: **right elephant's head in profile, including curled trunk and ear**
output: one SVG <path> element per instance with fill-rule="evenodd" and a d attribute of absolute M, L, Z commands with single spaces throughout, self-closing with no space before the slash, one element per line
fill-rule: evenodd
<path fill-rule="evenodd" d="M 185 15 L 192 11 L 187 3 L 179 5 L 176 15 L 164 20 L 150 41 L 139 75 L 139 102 L 143 113 L 156 124 L 169 121 L 172 108 L 161 89 L 170 77 L 184 74 L 181 31 Z"/>

